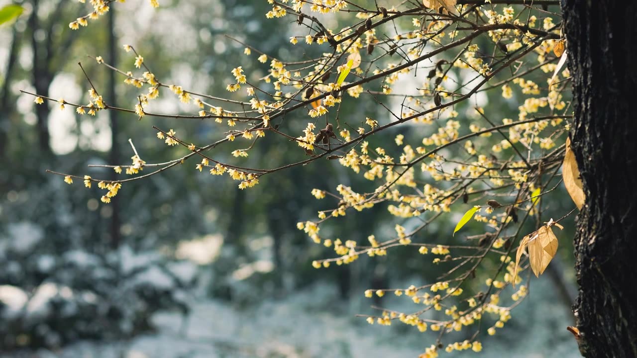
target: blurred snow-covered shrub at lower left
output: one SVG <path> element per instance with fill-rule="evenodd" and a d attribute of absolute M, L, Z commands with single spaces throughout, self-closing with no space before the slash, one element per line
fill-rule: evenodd
<path fill-rule="evenodd" d="M 0 236 L 0 352 L 110 340 L 152 329 L 159 310 L 189 313 L 197 267 L 124 246 L 108 254 L 51 254 L 35 224 Z"/>

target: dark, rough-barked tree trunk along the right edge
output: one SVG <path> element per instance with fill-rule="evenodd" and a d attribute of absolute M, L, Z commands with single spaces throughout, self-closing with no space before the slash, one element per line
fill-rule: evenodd
<path fill-rule="evenodd" d="M 637 2 L 562 8 L 586 194 L 575 237 L 578 343 L 585 357 L 637 357 Z"/>

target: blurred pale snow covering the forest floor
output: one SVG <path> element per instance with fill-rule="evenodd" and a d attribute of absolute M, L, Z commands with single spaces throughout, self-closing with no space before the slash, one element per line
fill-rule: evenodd
<path fill-rule="evenodd" d="M 533 289 L 501 333 L 483 338 L 483 352 L 441 352 L 440 356 L 580 357 L 566 331 L 572 324 L 568 311 L 551 303 L 554 297 L 540 296 L 552 291 L 549 283 L 540 279 Z M 56 352 L 39 350 L 0 358 L 417 357 L 435 341 L 433 333 L 420 334 L 401 324 L 369 326 L 354 317 L 360 307 L 343 307 L 347 304 L 337 297 L 334 287 L 315 285 L 249 308 L 201 300 L 192 305 L 186 321 L 178 313 L 155 315 L 157 333 L 129 341 L 82 341 Z"/>

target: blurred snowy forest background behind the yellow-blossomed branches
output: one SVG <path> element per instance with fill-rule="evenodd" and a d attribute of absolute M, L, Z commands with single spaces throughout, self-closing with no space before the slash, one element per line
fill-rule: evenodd
<path fill-rule="evenodd" d="M 440 275 L 415 250 L 312 268 L 329 252 L 296 229 L 320 209 L 311 189 L 368 185 L 336 161 L 280 171 L 251 190 L 200 175 L 192 170 L 196 163 L 187 163 L 132 182 L 110 204 L 99 201 L 97 188 L 69 186 L 45 173 L 111 175 L 87 164 L 129 162 L 129 138 L 145 161 L 174 159 L 175 149 L 157 141 L 152 125 L 196 133 L 200 142 L 215 127 L 115 111 L 80 116 L 51 103 L 36 106 L 20 90 L 83 101 L 90 87 L 82 62 L 108 103 L 130 108 L 134 89 L 87 57 L 129 66 L 134 56 L 122 46 L 130 44 L 168 82 L 226 96 L 231 69 L 245 60 L 238 41 L 298 58 L 289 36 L 305 34 L 296 33 L 295 24 L 266 19 L 266 1 L 162 0 L 158 9 L 127 1 L 71 31 L 69 22 L 87 13 L 85 4 L 17 3 L 24 13 L 0 27 L 0 357 L 405 357 L 436 340 L 436 333 L 369 326 L 355 317 L 374 311 L 362 294 L 368 288 L 407 287 Z M 497 92 L 493 98 L 485 93 L 473 104 L 492 117 L 516 115 L 515 96 L 506 103 Z M 156 103 L 163 113 L 194 111 L 174 98 Z M 467 108 L 457 111 L 469 113 L 461 106 Z M 386 115 L 371 97 L 341 108 L 343 117 L 362 114 Z M 276 166 L 302 158 L 298 152 L 266 138 L 248 164 Z M 564 203 L 548 204 L 547 217 L 572 206 L 565 190 L 557 190 Z M 466 243 L 467 234 L 450 234 L 459 215 L 443 216 L 426 234 Z M 513 320 L 485 337 L 475 356 L 579 356 L 566 331 L 575 290 L 568 220 L 548 275 L 531 280 L 531 294 Z M 322 230 L 362 241 L 372 232 L 391 233 L 395 224 L 386 207 L 376 206 Z M 486 277 L 478 272 L 480 282 Z M 399 298 L 377 297 L 373 304 L 411 310 Z"/>

